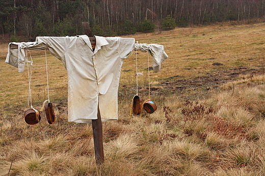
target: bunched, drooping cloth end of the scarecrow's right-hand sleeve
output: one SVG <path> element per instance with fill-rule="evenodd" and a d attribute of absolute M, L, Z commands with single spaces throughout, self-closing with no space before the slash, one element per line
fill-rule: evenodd
<path fill-rule="evenodd" d="M 153 58 L 153 70 L 158 72 L 161 69 L 161 64 L 166 58 L 168 58 L 167 53 L 164 51 L 163 45 L 157 44 L 138 44 L 134 45 L 134 50 L 140 50 L 142 52 L 149 52 Z"/>

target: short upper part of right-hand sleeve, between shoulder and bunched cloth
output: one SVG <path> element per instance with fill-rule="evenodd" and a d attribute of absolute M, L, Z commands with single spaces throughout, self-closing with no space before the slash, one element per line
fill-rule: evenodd
<path fill-rule="evenodd" d="M 120 57 L 122 59 L 127 58 L 131 52 L 134 51 L 134 38 L 119 38 L 119 47 L 118 52 L 120 53 Z"/>

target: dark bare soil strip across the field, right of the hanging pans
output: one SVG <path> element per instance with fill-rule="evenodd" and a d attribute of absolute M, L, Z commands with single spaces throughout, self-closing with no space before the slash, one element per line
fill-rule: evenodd
<path fill-rule="evenodd" d="M 206 96 L 211 90 L 220 88 L 224 83 L 239 79 L 240 75 L 249 75 L 249 77 L 253 77 L 254 75 L 261 74 L 264 74 L 263 66 L 219 70 L 192 79 L 182 79 L 180 76 L 176 75 L 170 77 L 169 80 L 161 82 L 161 87 L 153 88 L 152 93 L 158 93 L 160 95 L 177 94 L 181 99 L 197 99 Z"/>

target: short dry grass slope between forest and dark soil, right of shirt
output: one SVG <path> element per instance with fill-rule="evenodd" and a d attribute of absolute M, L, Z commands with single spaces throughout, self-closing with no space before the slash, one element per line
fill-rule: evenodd
<path fill-rule="evenodd" d="M 236 26 L 220 24 L 176 28 L 160 34 L 139 34 L 134 37 L 142 43 L 157 43 L 165 46 L 170 57 L 164 62 L 163 70 L 155 74 L 156 78 L 176 75 L 195 77 L 211 72 L 213 69 L 219 69 L 211 65 L 215 62 L 223 64 L 221 69 L 262 64 L 265 43 L 262 38 L 263 27 L 263 23 Z M 139 55 L 139 58 L 143 59 L 144 56 Z M 146 60 L 146 57 L 144 59 Z M 130 69 L 134 71 L 133 67 Z"/>

